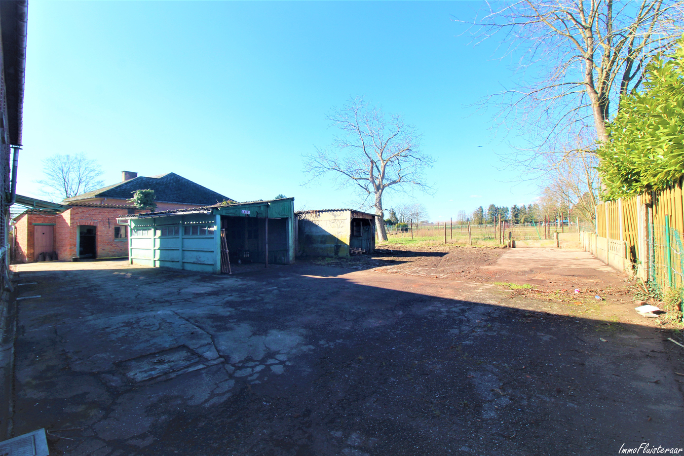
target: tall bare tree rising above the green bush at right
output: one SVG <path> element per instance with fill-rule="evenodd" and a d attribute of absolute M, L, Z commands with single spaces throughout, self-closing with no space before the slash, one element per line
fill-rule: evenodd
<path fill-rule="evenodd" d="M 620 109 L 620 96 L 640 88 L 646 62 L 681 36 L 679 0 L 518 0 L 486 3 L 469 23 L 477 41 L 497 38 L 518 77 L 483 100 L 495 124 L 516 132 L 506 165 L 541 187 L 562 184 L 570 161 L 581 168 Z M 568 150 L 573 152 L 568 154 Z M 523 177 L 524 176 L 524 177 Z M 586 173 L 582 174 L 586 177 Z M 580 187 L 600 184 L 585 180 Z M 594 193 L 592 193 L 594 194 Z"/>

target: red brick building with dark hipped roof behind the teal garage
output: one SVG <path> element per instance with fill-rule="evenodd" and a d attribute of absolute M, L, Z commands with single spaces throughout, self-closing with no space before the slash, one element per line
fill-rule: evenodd
<path fill-rule="evenodd" d="M 127 171 L 120 183 L 66 198 L 60 204 L 19 197 L 27 209 L 14 217 L 14 262 L 128 256 L 127 226 L 117 224 L 116 217 L 144 212 L 127 201 L 141 189 L 155 191 L 157 211 L 233 202 L 178 174 L 138 177 Z"/>

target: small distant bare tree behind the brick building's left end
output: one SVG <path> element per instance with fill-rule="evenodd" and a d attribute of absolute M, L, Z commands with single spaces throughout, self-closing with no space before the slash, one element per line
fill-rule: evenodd
<path fill-rule="evenodd" d="M 95 160 L 88 159 L 83 152 L 75 155 L 52 155 L 43 161 L 42 191 L 51 198 L 64 200 L 86 191 L 98 189 L 103 181 L 98 180 L 103 171 Z"/>

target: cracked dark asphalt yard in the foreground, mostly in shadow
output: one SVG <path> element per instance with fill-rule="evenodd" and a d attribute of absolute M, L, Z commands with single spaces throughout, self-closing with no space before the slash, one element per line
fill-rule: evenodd
<path fill-rule="evenodd" d="M 501 287 L 318 265 L 20 276 L 41 297 L 17 301 L 14 435 L 52 430 L 53 455 L 684 446 L 667 336 Z"/>

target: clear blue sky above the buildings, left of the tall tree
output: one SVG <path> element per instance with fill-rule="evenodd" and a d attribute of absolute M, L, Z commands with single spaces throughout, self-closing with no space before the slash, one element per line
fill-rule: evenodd
<path fill-rule="evenodd" d="M 402 113 L 437 159 L 433 220 L 527 204 L 490 114 L 469 107 L 511 72 L 454 17 L 477 2 L 40 1 L 29 3 L 18 193 L 42 197 L 41 161 L 85 152 L 105 184 L 176 172 L 239 201 L 349 206 L 351 190 L 302 186 L 302 155 L 328 146 L 325 116 L 350 96 Z M 478 147 L 482 146 L 482 147 Z"/>

